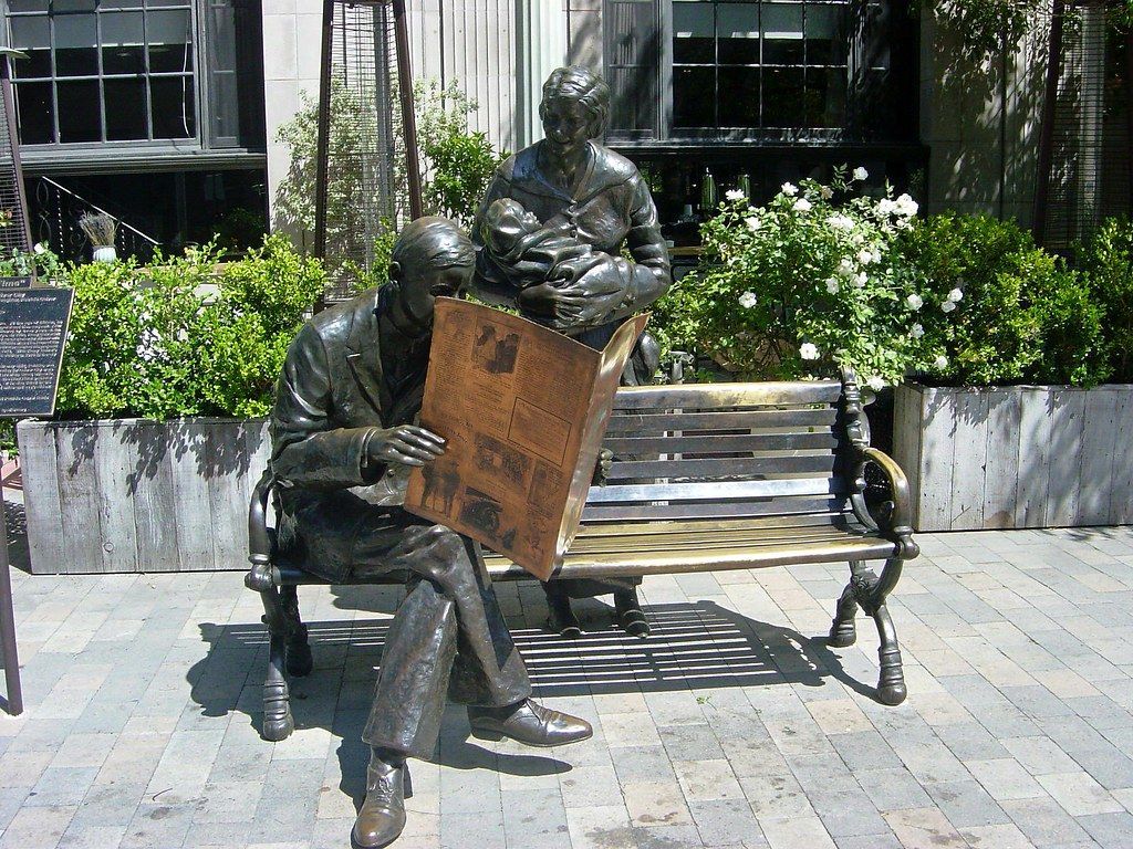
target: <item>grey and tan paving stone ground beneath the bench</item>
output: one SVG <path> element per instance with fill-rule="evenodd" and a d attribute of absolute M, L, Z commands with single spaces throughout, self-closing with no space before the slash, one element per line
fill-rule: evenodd
<path fill-rule="evenodd" d="M 483 743 L 450 709 L 395 846 L 1133 847 L 1133 529 L 919 539 L 891 600 L 898 707 L 872 698 L 870 620 L 824 643 L 838 567 L 649 578 L 645 641 L 587 603 L 564 642 L 538 586 L 500 586 L 537 695 L 595 737 Z M 273 745 L 239 572 L 14 577 L 27 710 L 0 714 L 0 849 L 349 846 L 397 591 L 301 591 L 315 671 Z"/>

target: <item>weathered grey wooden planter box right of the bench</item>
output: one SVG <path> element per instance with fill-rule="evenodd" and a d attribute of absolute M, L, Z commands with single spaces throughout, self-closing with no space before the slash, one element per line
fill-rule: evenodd
<path fill-rule="evenodd" d="M 918 531 L 1133 522 L 1133 385 L 896 388 Z"/>

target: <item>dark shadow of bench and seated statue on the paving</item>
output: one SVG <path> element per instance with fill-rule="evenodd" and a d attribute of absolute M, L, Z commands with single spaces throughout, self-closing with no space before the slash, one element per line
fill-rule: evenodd
<path fill-rule="evenodd" d="M 353 589 L 339 591 L 350 593 Z M 357 589 L 368 594 L 376 588 Z M 382 602 L 387 601 L 384 592 L 380 594 Z M 874 695 L 871 687 L 843 670 L 838 657 L 821 638 L 750 619 L 712 601 L 653 604 L 646 607 L 646 612 L 653 626 L 647 640 L 603 628 L 568 641 L 512 623 L 512 637 L 527 662 L 535 696 L 784 684 L 817 687 L 827 676 L 862 695 Z M 339 738 L 340 789 L 356 805 L 366 794 L 369 752 L 360 736 L 389 625 L 389 618 L 307 623 L 315 668 L 310 676 L 289 679 L 296 728 L 325 728 Z M 258 729 L 261 684 L 267 662 L 265 628 L 257 624 L 210 623 L 201 623 L 199 628 L 208 651 L 187 676 L 194 702 L 203 715 L 244 713 Z M 233 671 L 238 668 L 242 677 L 235 686 Z M 448 705 L 434 760 L 454 769 L 487 769 L 511 775 L 550 775 L 571 769 L 555 757 L 485 748 L 468 734 L 463 710 Z"/>

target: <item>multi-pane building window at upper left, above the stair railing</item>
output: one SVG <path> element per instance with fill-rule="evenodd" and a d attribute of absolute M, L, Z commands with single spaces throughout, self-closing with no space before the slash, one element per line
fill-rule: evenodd
<path fill-rule="evenodd" d="M 258 45 L 237 26 L 252 17 L 245 6 L 8 0 L 9 43 L 28 55 L 14 62 L 20 144 L 238 144 L 238 61 L 249 65 L 246 88 L 262 78 L 258 55 L 237 57 L 238 44 Z"/>

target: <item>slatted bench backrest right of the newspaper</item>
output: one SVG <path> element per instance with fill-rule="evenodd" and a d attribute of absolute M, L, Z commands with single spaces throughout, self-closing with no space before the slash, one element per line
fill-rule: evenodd
<path fill-rule="evenodd" d="M 582 520 L 842 515 L 849 445 L 838 380 L 622 388 Z"/>

